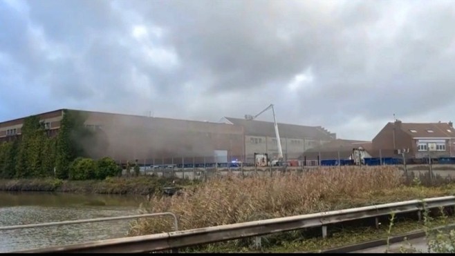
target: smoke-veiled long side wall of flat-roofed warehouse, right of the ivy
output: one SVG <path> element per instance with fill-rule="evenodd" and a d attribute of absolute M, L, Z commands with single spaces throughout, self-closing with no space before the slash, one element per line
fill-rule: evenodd
<path fill-rule="evenodd" d="M 243 159 L 243 128 L 230 124 L 100 112 L 90 112 L 85 124 L 100 126 L 106 152 L 123 162 L 212 162 L 214 150 Z"/>

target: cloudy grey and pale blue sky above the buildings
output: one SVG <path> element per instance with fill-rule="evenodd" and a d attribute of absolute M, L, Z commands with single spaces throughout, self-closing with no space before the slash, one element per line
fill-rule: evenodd
<path fill-rule="evenodd" d="M 454 24 L 438 0 L 0 0 L 0 120 L 275 104 L 279 122 L 371 140 L 393 113 L 455 121 Z"/>

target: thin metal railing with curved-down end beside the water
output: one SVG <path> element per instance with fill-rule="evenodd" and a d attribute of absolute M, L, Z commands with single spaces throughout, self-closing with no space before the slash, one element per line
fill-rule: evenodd
<path fill-rule="evenodd" d="M 158 217 L 158 216 L 165 216 L 165 215 L 169 215 L 174 218 L 174 230 L 177 231 L 178 230 L 178 220 L 177 220 L 177 216 L 174 213 L 147 213 L 147 214 L 142 214 L 142 215 L 105 217 L 105 218 L 97 218 L 97 219 L 78 219 L 78 220 L 71 220 L 71 221 L 57 221 L 57 222 L 48 222 L 48 223 L 40 223 L 40 224 L 0 226 L 0 231 L 24 229 L 24 228 L 41 228 L 41 227 L 48 227 L 48 226 L 64 226 L 64 225 L 71 225 L 71 224 L 85 224 L 85 223 L 124 220 L 124 219 L 139 219 L 139 218 L 145 218 L 145 217 Z"/>

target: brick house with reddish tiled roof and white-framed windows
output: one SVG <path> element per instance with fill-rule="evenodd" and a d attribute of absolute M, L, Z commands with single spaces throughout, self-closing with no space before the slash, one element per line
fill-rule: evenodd
<path fill-rule="evenodd" d="M 372 154 L 374 157 L 398 157 L 398 150 L 405 150 L 408 159 L 423 159 L 428 157 L 430 149 L 431 157 L 452 157 L 454 143 L 452 121 L 403 123 L 396 120 L 386 124 L 374 137 Z"/>

